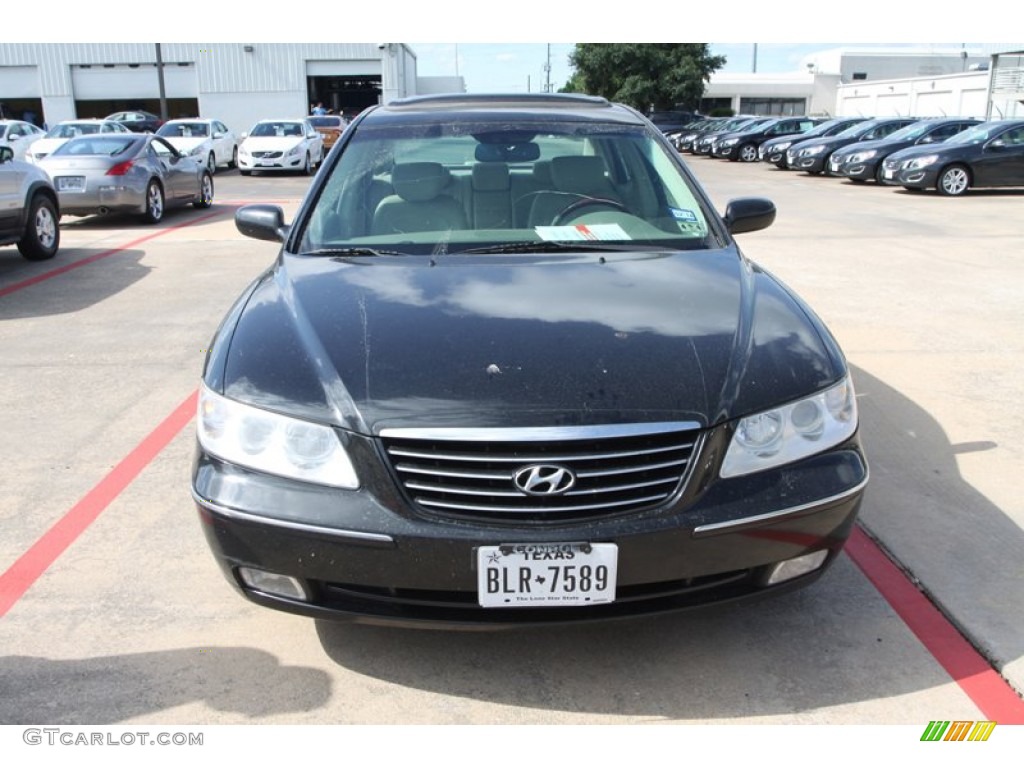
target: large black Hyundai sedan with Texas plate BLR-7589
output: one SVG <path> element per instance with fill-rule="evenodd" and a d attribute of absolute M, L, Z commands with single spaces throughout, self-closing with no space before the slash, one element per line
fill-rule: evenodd
<path fill-rule="evenodd" d="M 216 332 L 191 495 L 229 582 L 310 616 L 608 620 L 780 593 L 867 482 L 833 336 L 643 115 L 371 108 Z"/>

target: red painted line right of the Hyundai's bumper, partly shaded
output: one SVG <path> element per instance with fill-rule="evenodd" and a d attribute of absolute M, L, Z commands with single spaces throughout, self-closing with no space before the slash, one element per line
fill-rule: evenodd
<path fill-rule="evenodd" d="M 846 553 L 986 719 L 1024 725 L 1024 700 L 859 527 Z"/>

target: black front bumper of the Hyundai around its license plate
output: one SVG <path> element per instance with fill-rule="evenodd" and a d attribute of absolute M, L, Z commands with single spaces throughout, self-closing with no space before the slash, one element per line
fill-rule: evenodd
<path fill-rule="evenodd" d="M 368 441 L 369 442 L 369 441 Z M 856 439 L 757 475 L 690 478 L 674 501 L 572 523 L 446 520 L 413 510 L 387 470 L 359 490 L 311 486 L 197 456 L 193 497 L 228 581 L 262 605 L 322 618 L 406 626 L 511 627 L 660 613 L 780 592 L 841 551 L 867 482 Z M 613 543 L 616 599 L 601 605 L 483 608 L 476 550 Z M 767 584 L 775 564 L 825 551 L 821 567 Z M 247 586 L 239 568 L 299 580 L 308 599 Z"/>

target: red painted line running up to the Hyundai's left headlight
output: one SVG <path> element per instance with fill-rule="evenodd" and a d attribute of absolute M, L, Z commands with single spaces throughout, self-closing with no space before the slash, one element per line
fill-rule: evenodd
<path fill-rule="evenodd" d="M 196 415 L 193 392 L 82 500 L 0 575 L 0 617 L 63 554 Z"/>

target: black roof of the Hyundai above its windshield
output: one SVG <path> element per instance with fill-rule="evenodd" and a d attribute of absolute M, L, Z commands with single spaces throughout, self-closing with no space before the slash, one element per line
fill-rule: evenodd
<path fill-rule="evenodd" d="M 373 122 L 442 122 L 460 119 L 513 119 L 537 122 L 600 121 L 646 124 L 639 112 L 600 96 L 580 93 L 452 93 L 399 98 L 362 114 Z"/>

